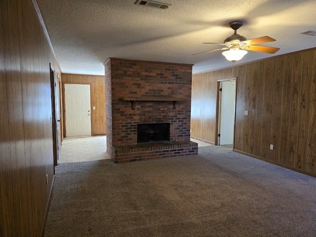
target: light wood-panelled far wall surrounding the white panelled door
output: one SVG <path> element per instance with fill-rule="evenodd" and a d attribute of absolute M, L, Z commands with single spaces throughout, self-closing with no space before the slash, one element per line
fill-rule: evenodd
<path fill-rule="evenodd" d="M 90 84 L 91 88 L 91 133 L 92 135 L 104 135 L 106 130 L 105 116 L 105 76 L 78 75 L 78 74 L 62 74 L 61 80 L 63 88 L 65 83 L 73 84 Z M 63 89 L 64 91 L 64 89 Z M 63 95 L 63 105 L 65 105 L 65 96 Z M 95 110 L 93 110 L 95 106 Z M 65 108 L 65 106 L 63 106 Z M 63 111 L 63 127 L 65 134 L 65 117 Z M 67 135 L 67 134 L 66 134 Z"/>

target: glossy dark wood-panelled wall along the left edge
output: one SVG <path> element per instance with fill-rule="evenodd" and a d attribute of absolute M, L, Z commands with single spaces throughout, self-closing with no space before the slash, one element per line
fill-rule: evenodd
<path fill-rule="evenodd" d="M 43 230 L 54 177 L 50 63 L 58 71 L 32 0 L 1 0 L 1 237 Z"/>

